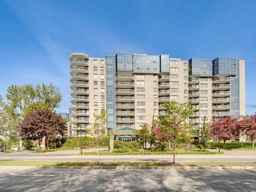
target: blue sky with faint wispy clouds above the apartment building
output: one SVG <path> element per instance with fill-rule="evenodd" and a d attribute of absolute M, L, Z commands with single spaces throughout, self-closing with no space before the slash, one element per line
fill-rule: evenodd
<path fill-rule="evenodd" d="M 0 94 L 53 82 L 70 106 L 72 52 L 246 60 L 246 103 L 256 104 L 256 1 L 0 0 Z M 252 114 L 256 108 L 247 107 Z"/>

